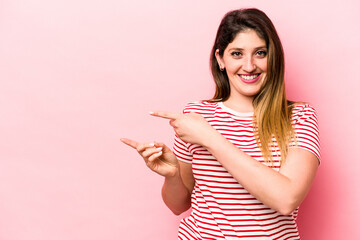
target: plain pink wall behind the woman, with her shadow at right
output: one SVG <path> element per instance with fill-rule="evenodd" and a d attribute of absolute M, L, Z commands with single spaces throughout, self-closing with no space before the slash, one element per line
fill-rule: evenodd
<path fill-rule="evenodd" d="M 0 239 L 176 239 L 162 178 L 119 138 L 172 144 L 148 112 L 212 96 L 216 29 L 241 7 L 273 20 L 288 96 L 318 111 L 303 239 L 359 239 L 356 0 L 0 1 Z"/>

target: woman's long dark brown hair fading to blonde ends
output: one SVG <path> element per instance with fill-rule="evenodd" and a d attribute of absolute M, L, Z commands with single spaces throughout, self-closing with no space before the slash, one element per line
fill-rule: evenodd
<path fill-rule="evenodd" d="M 286 99 L 284 83 L 284 52 L 276 29 L 266 14 L 255 8 L 234 10 L 222 19 L 210 56 L 210 68 L 216 84 L 213 102 L 225 101 L 230 96 L 226 71 L 220 71 L 215 52 L 220 57 L 239 32 L 252 29 L 266 42 L 266 79 L 254 97 L 254 132 L 257 144 L 266 161 L 273 162 L 271 147 L 280 149 L 281 163 L 287 156 L 290 140 L 294 136 L 291 124 L 293 102 Z M 276 141 L 273 141 L 275 137 Z"/>

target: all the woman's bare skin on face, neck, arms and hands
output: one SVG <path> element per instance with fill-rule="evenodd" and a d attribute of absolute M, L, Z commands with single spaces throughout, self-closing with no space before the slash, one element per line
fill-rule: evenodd
<path fill-rule="evenodd" d="M 246 30 L 226 47 L 222 57 L 216 51 L 219 66 L 226 69 L 230 81 L 231 94 L 224 102 L 227 107 L 238 112 L 253 111 L 252 100 L 266 76 L 265 46 L 255 31 Z M 246 84 L 240 79 L 245 74 L 260 74 L 260 79 Z M 283 215 L 295 210 L 310 189 L 318 160 L 309 151 L 289 149 L 285 164 L 277 172 L 238 149 L 199 114 L 153 112 L 151 115 L 168 119 L 183 141 L 205 147 L 254 197 Z M 162 197 L 166 205 L 175 214 L 186 211 L 194 187 L 191 164 L 177 161 L 163 143 L 121 141 L 135 148 L 151 170 L 165 177 Z"/>

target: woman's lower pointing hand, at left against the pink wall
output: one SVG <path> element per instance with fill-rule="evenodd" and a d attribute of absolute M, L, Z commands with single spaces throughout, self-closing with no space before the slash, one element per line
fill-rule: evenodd
<path fill-rule="evenodd" d="M 154 172 L 173 177 L 179 172 L 179 163 L 173 152 L 163 143 L 138 143 L 134 140 L 121 138 L 126 145 L 134 148 L 144 158 L 146 165 Z"/>

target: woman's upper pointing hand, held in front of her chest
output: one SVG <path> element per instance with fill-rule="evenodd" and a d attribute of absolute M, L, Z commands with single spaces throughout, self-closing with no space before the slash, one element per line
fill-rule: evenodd
<path fill-rule="evenodd" d="M 177 136 L 188 143 L 206 146 L 208 140 L 218 132 L 197 113 L 151 112 L 152 116 L 170 120 Z"/>

